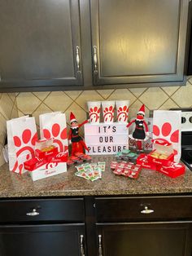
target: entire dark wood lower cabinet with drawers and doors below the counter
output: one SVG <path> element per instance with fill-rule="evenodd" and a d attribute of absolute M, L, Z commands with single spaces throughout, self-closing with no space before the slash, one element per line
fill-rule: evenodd
<path fill-rule="evenodd" d="M 0 201 L 0 256 L 192 256 L 192 196 Z"/>

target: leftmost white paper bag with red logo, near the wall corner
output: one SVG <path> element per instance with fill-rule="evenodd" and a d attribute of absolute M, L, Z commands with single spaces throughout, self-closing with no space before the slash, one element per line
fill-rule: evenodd
<path fill-rule="evenodd" d="M 34 157 L 37 128 L 34 117 L 19 117 L 7 121 L 9 170 L 24 173 L 24 161 Z"/>

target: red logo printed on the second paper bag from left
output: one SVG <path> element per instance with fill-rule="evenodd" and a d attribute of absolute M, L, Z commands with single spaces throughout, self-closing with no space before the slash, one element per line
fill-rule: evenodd
<path fill-rule="evenodd" d="M 49 129 L 43 129 L 44 139 L 54 138 L 54 143 L 59 147 L 59 152 L 68 151 L 68 134 L 67 127 L 61 128 L 58 123 L 55 123 Z"/>

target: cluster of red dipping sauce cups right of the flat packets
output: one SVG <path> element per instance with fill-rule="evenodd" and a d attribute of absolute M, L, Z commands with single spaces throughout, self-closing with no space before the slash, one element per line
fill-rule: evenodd
<path fill-rule="evenodd" d="M 142 170 L 142 166 L 134 165 L 133 162 L 126 161 L 111 161 L 110 167 L 114 174 L 123 175 L 131 179 L 137 179 Z"/>

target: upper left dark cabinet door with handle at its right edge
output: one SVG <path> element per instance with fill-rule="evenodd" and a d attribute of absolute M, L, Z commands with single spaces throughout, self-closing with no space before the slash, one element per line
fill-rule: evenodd
<path fill-rule="evenodd" d="M 0 90 L 82 85 L 78 0 L 1 0 L 0 33 Z"/>

